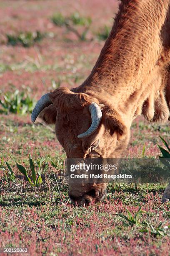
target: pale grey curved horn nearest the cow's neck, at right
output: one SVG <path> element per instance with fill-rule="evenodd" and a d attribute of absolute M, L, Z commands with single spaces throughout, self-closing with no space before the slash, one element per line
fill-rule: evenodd
<path fill-rule="evenodd" d="M 89 111 L 92 118 L 92 124 L 85 133 L 79 134 L 77 136 L 78 138 L 85 138 L 87 136 L 90 136 L 96 131 L 100 124 L 100 121 L 102 119 L 102 111 L 100 110 L 99 106 L 95 102 L 92 102 L 92 104 L 90 104 L 89 106 Z"/>

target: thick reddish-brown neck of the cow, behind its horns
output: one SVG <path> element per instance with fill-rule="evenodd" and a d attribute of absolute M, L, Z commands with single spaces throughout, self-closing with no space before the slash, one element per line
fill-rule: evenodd
<path fill-rule="evenodd" d="M 95 67 L 77 90 L 97 94 L 122 111 L 124 107 L 126 112 L 131 108 L 133 118 L 135 108 L 140 108 L 138 105 L 147 96 L 143 96 L 145 87 L 159 72 L 163 51 L 160 31 L 168 3 L 169 0 L 123 0 Z"/>

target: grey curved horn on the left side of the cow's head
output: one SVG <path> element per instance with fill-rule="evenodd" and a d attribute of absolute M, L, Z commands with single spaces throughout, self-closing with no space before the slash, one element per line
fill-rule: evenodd
<path fill-rule="evenodd" d="M 46 93 L 40 98 L 40 100 L 38 100 L 37 104 L 35 105 L 35 108 L 31 114 L 31 121 L 34 123 L 40 112 L 51 104 L 52 101 L 50 100 L 49 93 Z"/>

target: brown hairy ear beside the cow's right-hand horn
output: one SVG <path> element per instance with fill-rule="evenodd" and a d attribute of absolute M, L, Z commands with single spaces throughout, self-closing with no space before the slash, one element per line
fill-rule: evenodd
<path fill-rule="evenodd" d="M 118 141 L 127 133 L 126 125 L 120 115 L 113 109 L 108 109 L 103 113 L 103 124 L 111 136 L 116 133 Z"/>

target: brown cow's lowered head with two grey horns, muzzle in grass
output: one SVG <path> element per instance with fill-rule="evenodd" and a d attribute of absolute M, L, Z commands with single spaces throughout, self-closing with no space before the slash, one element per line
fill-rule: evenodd
<path fill-rule="evenodd" d="M 119 158 L 128 144 L 129 129 L 117 111 L 100 103 L 97 97 L 60 87 L 41 97 L 31 118 L 35 122 L 40 114 L 46 123 L 55 123 L 67 158 Z M 72 202 L 84 205 L 102 200 L 106 184 L 69 184 L 68 193 Z"/>

